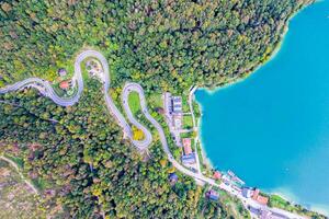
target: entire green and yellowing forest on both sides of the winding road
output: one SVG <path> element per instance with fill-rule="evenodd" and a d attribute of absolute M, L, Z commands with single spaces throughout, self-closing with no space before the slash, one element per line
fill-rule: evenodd
<path fill-rule="evenodd" d="M 269 59 L 288 19 L 313 0 L 2 0 L 0 88 L 72 74 L 83 48 L 104 54 L 111 87 L 183 93 L 246 77 Z M 21 159 L 59 218 L 246 218 L 237 200 L 208 201 L 174 172 L 159 141 L 138 153 L 109 115 L 101 84 L 61 107 L 34 90 L 0 95 L 0 153 Z M 118 93 L 118 92 L 117 92 Z M 225 197 L 225 195 L 223 195 Z"/>

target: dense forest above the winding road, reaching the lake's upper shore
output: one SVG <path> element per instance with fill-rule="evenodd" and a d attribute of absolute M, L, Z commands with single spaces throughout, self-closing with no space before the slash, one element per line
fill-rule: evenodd
<path fill-rule="evenodd" d="M 0 85 L 53 80 L 84 46 L 100 48 L 121 81 L 223 84 L 264 61 L 287 19 L 310 1 L 2 0 Z"/>

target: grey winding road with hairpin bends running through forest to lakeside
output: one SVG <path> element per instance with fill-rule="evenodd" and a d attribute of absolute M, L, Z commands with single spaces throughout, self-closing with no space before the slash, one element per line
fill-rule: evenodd
<path fill-rule="evenodd" d="M 183 174 L 189 175 L 193 178 L 206 182 L 213 186 L 216 186 L 224 191 L 227 191 L 229 194 L 238 197 L 243 203 L 245 206 L 252 206 L 254 208 L 266 209 L 272 212 L 284 215 L 286 218 L 291 218 L 291 219 L 304 219 L 304 217 L 300 217 L 293 212 L 261 206 L 258 203 L 256 203 L 254 200 L 252 200 L 251 198 L 245 198 L 240 193 L 235 191 L 231 186 L 228 186 L 224 183 L 218 184 L 213 178 L 206 177 L 206 176 L 202 175 L 201 173 L 194 173 L 194 172 L 185 169 L 183 165 L 181 165 L 178 161 L 174 160 L 173 155 L 171 154 L 171 152 L 169 150 L 167 138 L 166 138 L 166 135 L 164 135 L 164 131 L 163 131 L 161 125 L 148 112 L 143 88 L 138 83 L 126 83 L 123 89 L 123 94 L 122 94 L 122 103 L 123 103 L 124 111 L 126 113 L 126 116 L 127 116 L 129 123 L 132 125 L 136 126 L 137 128 L 141 129 L 145 134 L 145 138 L 143 140 L 134 140 L 132 127 L 126 122 L 126 119 L 122 115 L 122 113 L 117 110 L 112 97 L 109 94 L 110 71 L 109 71 L 107 60 L 101 53 L 99 53 L 97 50 L 91 50 L 91 49 L 83 50 L 82 53 L 80 53 L 77 56 L 76 61 L 75 61 L 75 74 L 72 77 L 72 81 L 75 81 L 76 84 L 78 85 L 78 91 L 76 92 L 76 94 L 73 96 L 71 96 L 69 99 L 58 96 L 56 94 L 56 92 L 54 91 L 52 84 L 48 81 L 45 81 L 45 80 L 42 80 L 38 78 L 29 78 L 23 81 L 16 82 L 12 85 L 8 85 L 3 89 L 0 89 L 0 94 L 4 94 L 8 92 L 18 91 L 18 90 L 21 90 L 24 88 L 32 87 L 32 88 L 37 89 L 43 95 L 52 99 L 56 104 L 61 105 L 61 106 L 71 106 L 79 101 L 79 99 L 82 94 L 83 79 L 82 79 L 82 72 L 81 72 L 81 64 L 84 59 L 90 58 L 90 57 L 99 59 L 103 67 L 103 76 L 101 78 L 103 80 L 104 99 L 105 99 L 105 103 L 106 103 L 106 106 L 107 106 L 110 113 L 115 117 L 118 125 L 123 128 L 125 136 L 127 136 L 131 139 L 133 145 L 138 150 L 141 150 L 141 151 L 146 150 L 152 142 L 152 136 L 151 136 L 151 132 L 134 117 L 134 115 L 129 108 L 129 105 L 128 105 L 128 95 L 131 92 L 138 93 L 143 114 L 159 132 L 163 151 L 166 152 L 168 160 L 172 163 L 172 165 L 178 171 L 180 171 Z M 195 123 L 195 120 L 194 120 L 194 123 Z"/>

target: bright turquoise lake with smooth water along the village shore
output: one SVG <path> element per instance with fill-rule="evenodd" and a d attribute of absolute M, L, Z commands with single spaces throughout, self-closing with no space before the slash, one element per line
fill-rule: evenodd
<path fill-rule="evenodd" d="M 329 211 L 329 1 L 294 16 L 279 53 L 248 79 L 195 96 L 214 166 Z"/>

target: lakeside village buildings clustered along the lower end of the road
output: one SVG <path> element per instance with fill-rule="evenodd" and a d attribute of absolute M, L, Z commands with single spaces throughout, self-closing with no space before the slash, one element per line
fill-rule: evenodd
<path fill-rule="evenodd" d="M 182 137 L 185 136 L 185 134 L 197 131 L 197 127 L 195 124 L 193 124 L 194 127 L 191 129 L 184 128 L 183 116 L 192 115 L 192 112 L 183 111 L 182 96 L 174 96 L 169 92 L 166 92 L 163 94 L 163 105 L 166 122 L 169 126 L 173 142 L 175 147 L 181 149 L 181 163 L 194 173 L 201 173 L 201 164 L 198 161 L 198 155 L 201 154 L 197 154 L 197 150 L 195 147 L 197 138 L 191 137 L 193 135 L 190 135 L 190 137 Z M 266 210 L 269 197 L 256 187 L 246 186 L 246 183 L 241 178 L 239 178 L 232 171 L 220 172 L 217 170 L 213 170 L 213 175 L 211 177 L 216 182 L 222 182 L 226 186 L 230 187 L 235 194 L 239 194 L 243 198 L 251 199 L 259 206 L 263 206 L 263 208 L 254 208 L 246 204 L 246 207 L 254 217 L 261 219 L 286 218 L 284 215 L 274 214 L 270 210 Z M 179 177 L 175 173 L 170 173 L 169 181 L 171 185 L 174 185 L 179 181 Z M 219 188 L 211 187 L 206 192 L 205 196 L 211 201 L 217 201 L 220 198 Z"/>

